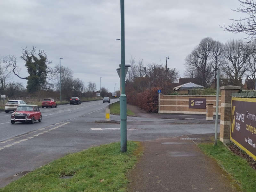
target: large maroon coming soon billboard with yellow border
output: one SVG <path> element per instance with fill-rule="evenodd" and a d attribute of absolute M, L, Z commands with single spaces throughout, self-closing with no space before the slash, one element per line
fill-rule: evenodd
<path fill-rule="evenodd" d="M 230 140 L 256 160 L 256 98 L 232 98 Z"/>

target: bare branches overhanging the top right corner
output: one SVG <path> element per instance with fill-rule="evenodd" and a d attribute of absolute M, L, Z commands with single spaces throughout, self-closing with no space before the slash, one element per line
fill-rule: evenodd
<path fill-rule="evenodd" d="M 238 20 L 233 20 L 233 23 L 228 25 L 224 25 L 221 27 L 224 31 L 231 31 L 233 33 L 245 33 L 247 34 L 247 42 L 254 42 L 256 35 L 256 3 L 253 0 L 238 0 L 241 4 L 241 8 L 237 8 L 237 10 L 233 10 L 235 12 L 245 13 L 246 17 L 243 19 L 240 18 Z"/>

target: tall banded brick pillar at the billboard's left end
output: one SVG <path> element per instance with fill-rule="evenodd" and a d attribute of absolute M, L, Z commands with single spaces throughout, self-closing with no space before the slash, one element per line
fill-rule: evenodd
<path fill-rule="evenodd" d="M 239 92 L 239 86 L 222 86 L 221 90 L 221 114 L 220 114 L 220 141 L 230 142 L 230 117 L 231 117 L 231 93 Z M 217 115 L 216 115 L 217 117 Z"/>

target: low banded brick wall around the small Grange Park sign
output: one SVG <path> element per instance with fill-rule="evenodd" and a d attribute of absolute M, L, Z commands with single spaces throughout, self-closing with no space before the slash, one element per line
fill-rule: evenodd
<path fill-rule="evenodd" d="M 160 94 L 159 113 L 184 113 L 184 114 L 206 114 L 205 109 L 196 109 L 188 107 L 189 98 L 205 98 L 206 103 L 213 103 L 213 115 L 216 110 L 216 95 L 163 95 Z M 219 115 L 220 115 L 220 97 L 219 97 Z"/>

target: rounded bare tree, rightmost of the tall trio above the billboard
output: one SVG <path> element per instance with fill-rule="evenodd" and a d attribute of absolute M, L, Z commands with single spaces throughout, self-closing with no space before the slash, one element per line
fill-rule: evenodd
<path fill-rule="evenodd" d="M 230 40 L 225 44 L 226 58 L 223 70 L 226 78 L 234 85 L 241 85 L 241 79 L 248 70 L 249 46 L 242 40 Z"/>

